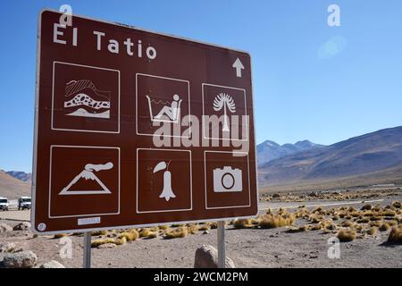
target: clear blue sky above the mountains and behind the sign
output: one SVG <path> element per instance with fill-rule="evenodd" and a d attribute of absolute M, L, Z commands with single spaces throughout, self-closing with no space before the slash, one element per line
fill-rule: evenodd
<path fill-rule="evenodd" d="M 401 124 L 400 0 L 2 2 L 0 169 L 31 169 L 38 13 L 73 13 L 247 50 L 257 143 L 332 144 Z M 339 4 L 341 26 L 327 25 Z"/>

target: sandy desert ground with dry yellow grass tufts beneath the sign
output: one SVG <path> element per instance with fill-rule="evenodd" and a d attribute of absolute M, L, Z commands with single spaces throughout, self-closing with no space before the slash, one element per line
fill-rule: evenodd
<path fill-rule="evenodd" d="M 261 196 L 258 218 L 228 222 L 226 253 L 237 267 L 402 267 L 401 233 L 389 241 L 393 228 L 402 231 L 400 202 L 400 188 L 266 193 Z M 29 211 L 0 212 L 0 218 L 0 223 L 13 227 L 29 221 Z M 214 227 L 215 223 L 206 223 L 95 233 L 92 266 L 193 267 L 198 247 L 216 247 Z M 66 267 L 81 267 L 82 235 L 65 237 L 72 242 L 71 257 L 60 256 L 65 239 L 37 237 L 30 231 L 4 231 L 0 243 L 32 250 L 37 265 L 56 260 Z M 342 240 L 339 258 L 328 257 L 328 241 L 334 237 Z M 0 253 L 0 261 L 4 255 Z"/>

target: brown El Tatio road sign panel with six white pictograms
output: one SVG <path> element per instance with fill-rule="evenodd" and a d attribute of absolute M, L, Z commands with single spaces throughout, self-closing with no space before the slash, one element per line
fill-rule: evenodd
<path fill-rule="evenodd" d="M 35 231 L 257 214 L 250 56 L 71 20 L 39 16 Z"/>

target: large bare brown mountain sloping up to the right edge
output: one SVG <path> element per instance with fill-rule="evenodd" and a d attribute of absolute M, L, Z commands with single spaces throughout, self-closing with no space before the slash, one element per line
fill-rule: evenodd
<path fill-rule="evenodd" d="M 262 187 L 378 175 L 399 169 L 402 170 L 402 126 L 281 156 L 260 164 L 258 175 Z"/>

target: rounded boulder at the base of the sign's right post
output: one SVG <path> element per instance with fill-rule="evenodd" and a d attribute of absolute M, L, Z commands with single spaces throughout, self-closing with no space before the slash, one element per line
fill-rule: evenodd
<path fill-rule="evenodd" d="M 211 245 L 197 248 L 194 268 L 218 268 L 218 250 Z M 225 268 L 236 268 L 229 257 L 225 259 Z"/>

